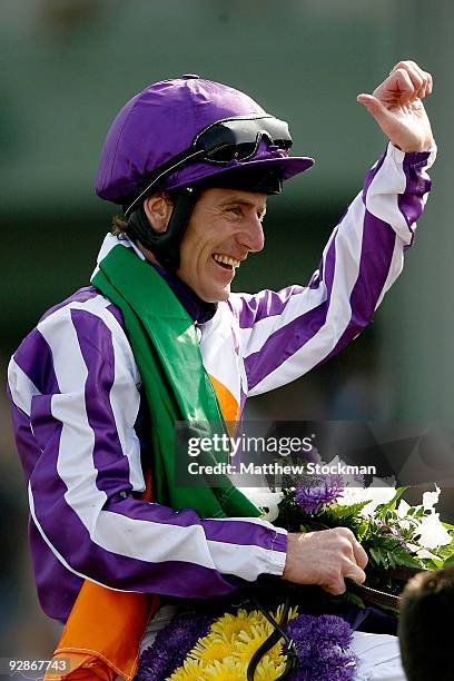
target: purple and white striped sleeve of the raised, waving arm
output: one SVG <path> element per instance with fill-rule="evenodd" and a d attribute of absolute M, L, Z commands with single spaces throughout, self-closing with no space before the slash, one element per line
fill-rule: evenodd
<path fill-rule="evenodd" d="M 248 395 L 303 376 L 367 326 L 402 272 L 434 160 L 435 150 L 404 154 L 388 144 L 330 235 L 308 286 L 231 295 Z"/>

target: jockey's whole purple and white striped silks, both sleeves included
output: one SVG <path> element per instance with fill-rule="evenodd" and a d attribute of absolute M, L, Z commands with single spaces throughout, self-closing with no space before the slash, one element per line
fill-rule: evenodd
<path fill-rule="evenodd" d="M 308 286 L 233 294 L 199 325 L 208 373 L 241 407 L 337 353 L 371 320 L 402 269 L 433 158 L 389 145 Z M 106 237 L 100 258 L 116 244 Z M 286 533 L 266 521 L 201 520 L 138 499 L 140 386 L 121 315 L 92 287 L 49 310 L 10 362 L 34 575 L 52 618 L 66 620 L 85 579 L 210 598 L 284 570 Z"/>

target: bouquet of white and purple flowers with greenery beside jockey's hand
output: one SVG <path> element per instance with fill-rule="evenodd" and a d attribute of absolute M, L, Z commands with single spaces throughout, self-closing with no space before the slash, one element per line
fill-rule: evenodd
<path fill-rule="evenodd" d="M 333 465 L 334 464 L 334 465 Z M 343 467 L 334 460 L 329 470 Z M 436 570 L 454 562 L 454 525 L 442 522 L 435 506 L 440 488 L 424 492 L 422 503 L 409 505 L 407 487 L 394 487 L 379 478 L 369 486 L 358 476 L 323 473 L 303 475 L 295 486 L 284 487 L 276 525 L 292 532 L 344 526 L 352 530 L 369 556 L 365 588 L 353 586 L 366 600 L 397 608 L 398 600 L 374 599 L 373 592 L 397 596 L 403 583 L 417 571 Z M 275 502 L 275 500 L 274 500 Z"/>

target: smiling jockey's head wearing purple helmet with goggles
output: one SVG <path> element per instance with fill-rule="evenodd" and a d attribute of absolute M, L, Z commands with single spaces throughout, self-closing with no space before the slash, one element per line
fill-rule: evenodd
<path fill-rule="evenodd" d="M 263 248 L 267 195 L 314 162 L 289 157 L 290 146 L 287 124 L 247 95 L 184 76 L 149 86 L 121 109 L 96 191 L 124 207 L 126 231 L 147 257 L 218 302 L 236 264 Z"/>

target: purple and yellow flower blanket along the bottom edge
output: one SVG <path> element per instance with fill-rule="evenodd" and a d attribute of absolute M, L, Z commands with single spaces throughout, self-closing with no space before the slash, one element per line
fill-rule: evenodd
<path fill-rule="evenodd" d="M 285 642 L 282 642 L 280 633 L 276 634 L 260 610 L 231 610 L 219 616 L 199 611 L 177 614 L 144 652 L 137 680 L 353 679 L 356 663 L 348 652 L 352 630 L 342 618 L 302 615 L 296 608 L 285 614 L 279 606 L 270 619 L 278 622 L 283 616 L 287 619 Z M 261 654 L 260 649 L 265 647 Z M 251 665 L 254 659 L 256 663 Z"/>

